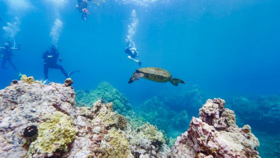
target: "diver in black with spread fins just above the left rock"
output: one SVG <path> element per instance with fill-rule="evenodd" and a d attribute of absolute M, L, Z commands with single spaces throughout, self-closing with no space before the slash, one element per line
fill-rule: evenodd
<path fill-rule="evenodd" d="M 73 72 L 77 72 L 79 70 L 76 71 L 71 71 L 70 73 L 66 73 L 66 71 L 64 70 L 64 68 L 57 64 L 57 60 L 62 61 L 57 48 L 55 45 L 51 45 L 50 48 L 48 50 L 46 50 L 43 55 L 42 58 L 44 59 L 44 81 L 43 84 L 47 81 L 48 76 L 48 68 L 53 68 L 53 69 L 60 69 L 60 71 L 64 74 L 64 76 L 67 78 L 69 77 Z"/>

